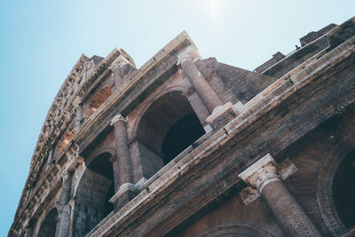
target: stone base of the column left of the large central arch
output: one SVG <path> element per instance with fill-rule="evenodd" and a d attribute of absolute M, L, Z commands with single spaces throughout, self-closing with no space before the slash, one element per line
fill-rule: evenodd
<path fill-rule="evenodd" d="M 130 183 L 125 183 L 120 186 L 120 189 L 114 196 L 109 200 L 114 204 L 114 209 L 122 209 L 128 202 L 137 196 L 139 193 L 138 188 Z"/>

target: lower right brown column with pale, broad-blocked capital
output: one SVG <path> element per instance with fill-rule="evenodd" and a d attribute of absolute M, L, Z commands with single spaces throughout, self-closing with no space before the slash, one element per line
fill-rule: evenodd
<path fill-rule="evenodd" d="M 270 154 L 241 172 L 239 177 L 257 189 L 288 236 L 321 236 L 310 217 L 288 192 Z"/>

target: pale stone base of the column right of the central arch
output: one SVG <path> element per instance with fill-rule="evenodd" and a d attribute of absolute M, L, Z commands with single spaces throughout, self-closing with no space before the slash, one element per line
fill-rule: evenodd
<path fill-rule="evenodd" d="M 212 115 L 206 118 L 206 122 L 213 130 L 218 130 L 225 126 L 227 122 L 231 122 L 238 115 L 238 110 L 231 102 L 225 103 L 223 106 L 216 107 Z"/>

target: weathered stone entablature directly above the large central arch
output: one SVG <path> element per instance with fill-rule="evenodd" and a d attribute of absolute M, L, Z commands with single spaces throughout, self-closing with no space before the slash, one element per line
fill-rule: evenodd
<path fill-rule="evenodd" d="M 193 41 L 184 31 L 149 59 L 144 66 L 132 71 L 122 86 L 106 99 L 75 135 L 75 142 L 80 146 L 81 151 L 89 146 L 91 138 L 98 137 L 109 127 L 114 115 L 129 115 L 150 91 L 154 91 L 170 75 L 177 72 L 177 53 L 189 45 L 194 45 Z"/>

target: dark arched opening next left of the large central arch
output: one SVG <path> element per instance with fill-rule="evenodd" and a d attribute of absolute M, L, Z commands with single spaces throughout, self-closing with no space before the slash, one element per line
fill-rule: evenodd
<path fill-rule="evenodd" d="M 114 170 L 108 153 L 99 154 L 83 173 L 75 194 L 74 235 L 83 236 L 105 218 L 114 206 Z"/>

